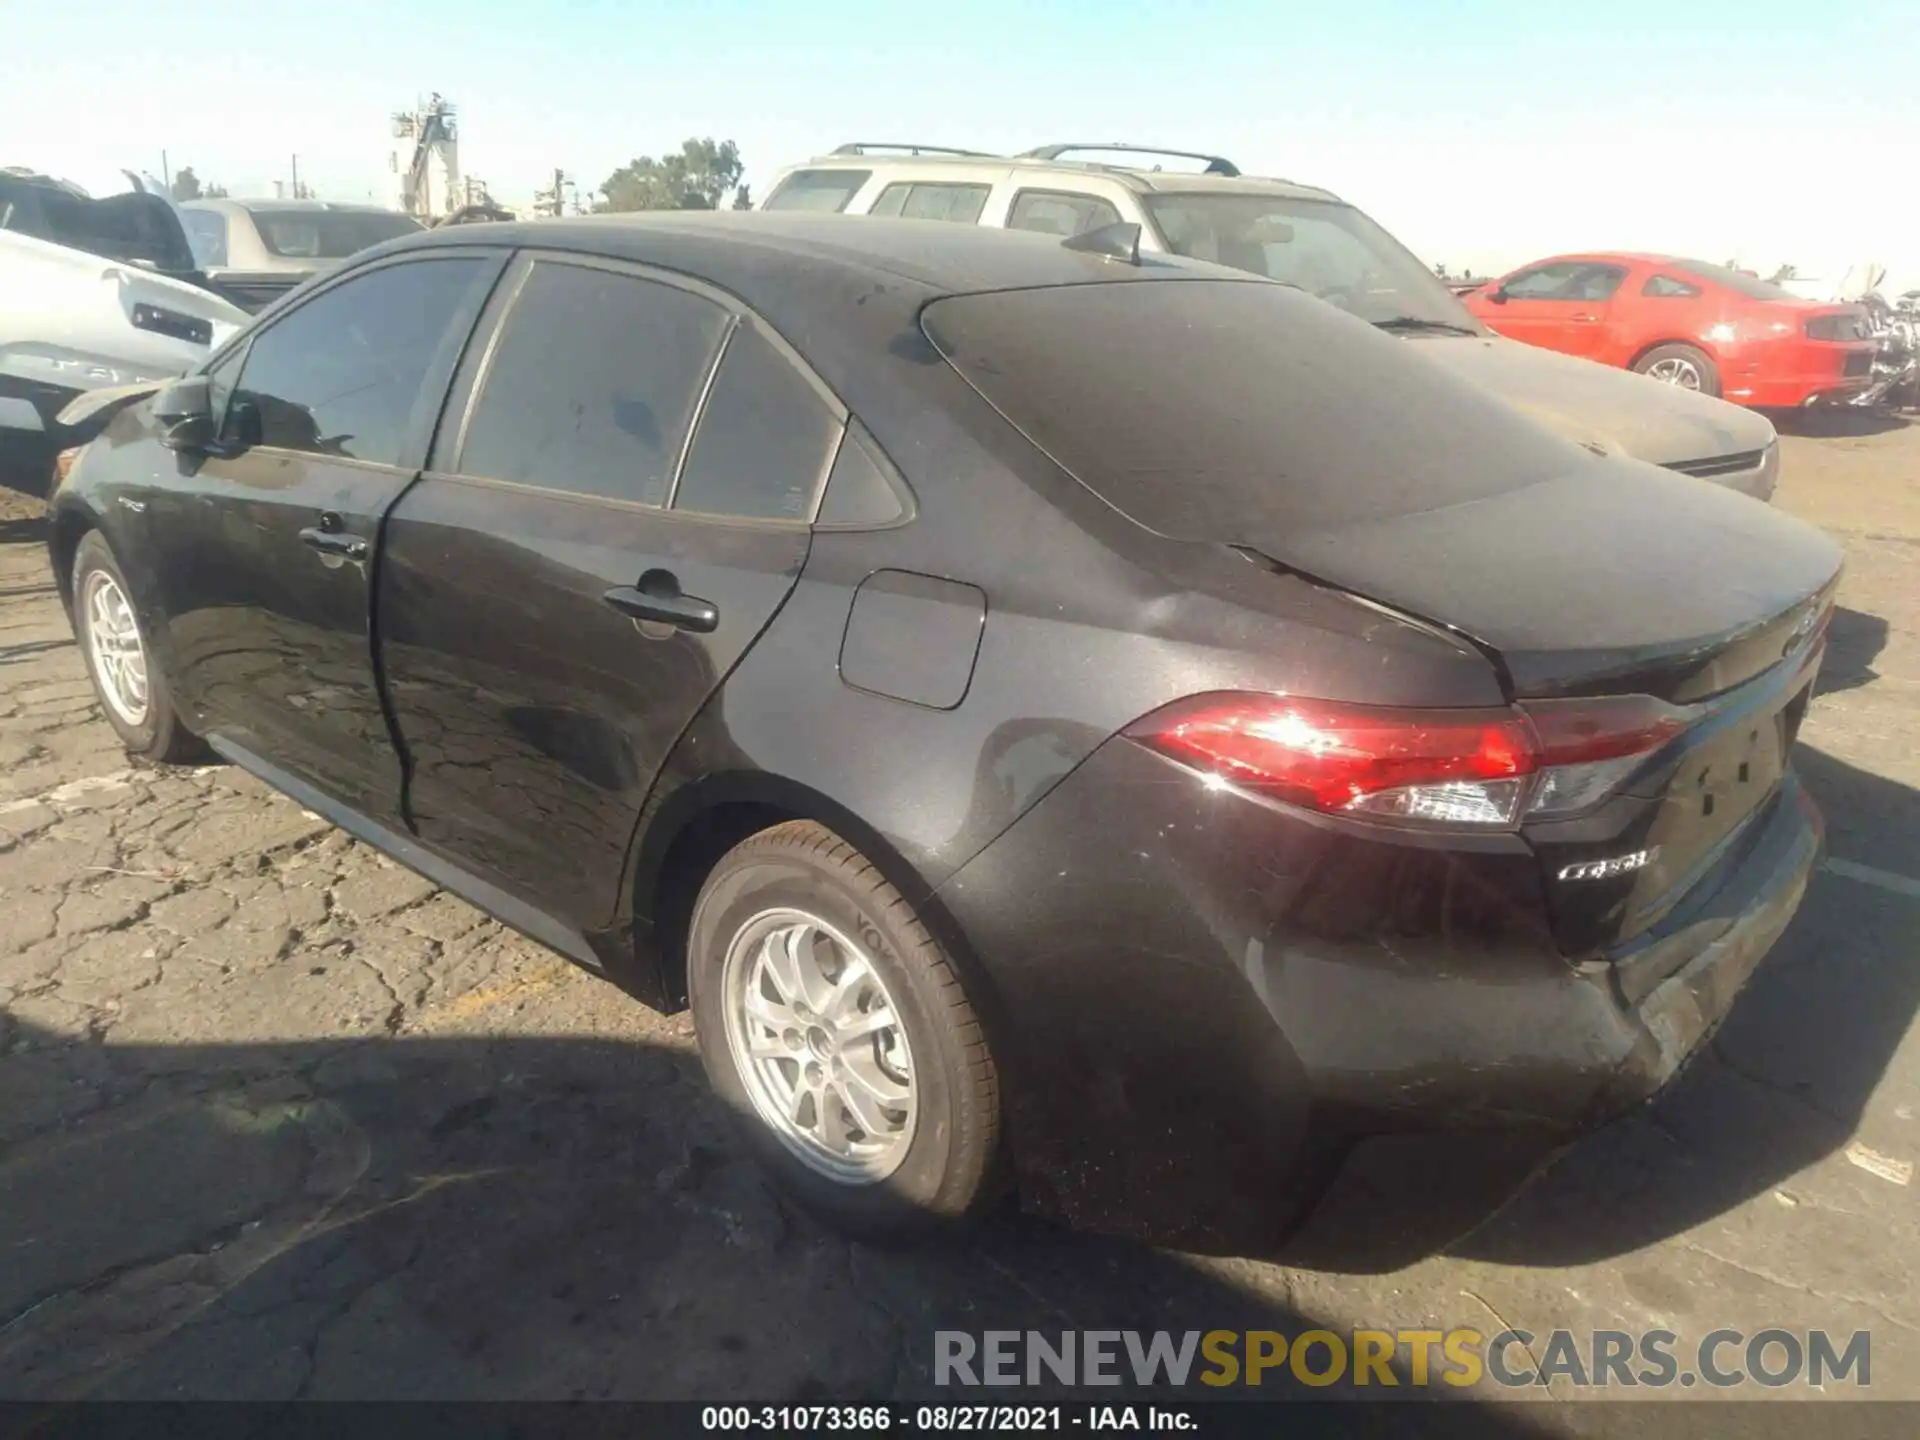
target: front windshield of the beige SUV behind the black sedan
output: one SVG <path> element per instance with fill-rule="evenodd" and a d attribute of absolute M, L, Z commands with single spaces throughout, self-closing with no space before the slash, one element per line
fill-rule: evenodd
<path fill-rule="evenodd" d="M 1146 211 L 1177 255 L 1296 284 L 1363 321 L 1480 323 L 1398 240 L 1352 205 L 1235 194 L 1150 194 Z"/>

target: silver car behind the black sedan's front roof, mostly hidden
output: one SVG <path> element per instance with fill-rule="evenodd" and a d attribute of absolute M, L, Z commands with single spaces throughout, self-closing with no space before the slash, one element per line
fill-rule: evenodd
<path fill-rule="evenodd" d="M 180 219 L 200 269 L 250 311 L 348 255 L 426 228 L 396 209 L 330 200 L 188 200 Z"/>

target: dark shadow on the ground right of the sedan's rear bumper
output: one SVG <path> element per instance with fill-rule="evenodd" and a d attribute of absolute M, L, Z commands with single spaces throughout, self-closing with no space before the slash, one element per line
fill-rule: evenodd
<path fill-rule="evenodd" d="M 1920 874 L 1920 795 L 1803 745 L 1830 854 Z M 1452 1248 L 1511 1265 L 1624 1256 L 1843 1148 L 1920 1010 L 1920 900 L 1818 874 L 1718 1035 L 1647 1108 L 1572 1146 Z"/>

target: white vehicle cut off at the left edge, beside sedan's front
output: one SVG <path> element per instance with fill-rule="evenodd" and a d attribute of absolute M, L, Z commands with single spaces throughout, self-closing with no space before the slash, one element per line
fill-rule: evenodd
<path fill-rule="evenodd" d="M 173 204 L 0 171 L 0 486 L 46 493 L 75 397 L 180 374 L 248 323 L 194 265 Z"/>

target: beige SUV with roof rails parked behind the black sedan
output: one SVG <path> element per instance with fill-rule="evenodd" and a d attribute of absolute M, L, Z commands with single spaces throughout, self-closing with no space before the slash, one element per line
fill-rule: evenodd
<path fill-rule="evenodd" d="M 1098 159 L 1069 159 L 1096 156 Z M 1188 161 L 1190 169 L 1112 163 Z M 1766 417 L 1630 371 L 1501 340 L 1386 230 L 1329 190 L 1242 175 L 1221 156 L 1043 146 L 987 156 L 847 144 L 781 171 L 760 209 L 899 215 L 1075 236 L 1137 225 L 1142 253 L 1284 280 L 1382 330 L 1555 430 L 1768 499 L 1780 470 Z"/>

